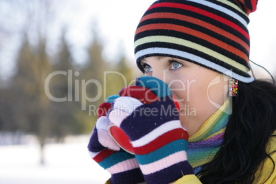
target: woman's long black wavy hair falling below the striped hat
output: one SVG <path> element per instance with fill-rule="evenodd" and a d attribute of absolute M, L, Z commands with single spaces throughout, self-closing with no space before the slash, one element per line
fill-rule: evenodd
<path fill-rule="evenodd" d="M 239 95 L 232 100 L 233 113 L 224 142 L 214 160 L 200 172 L 200 181 L 264 183 L 270 175 L 260 181 L 256 172 L 262 170 L 264 160 L 271 159 L 266 144 L 276 129 L 276 86 L 263 80 L 239 82 Z M 271 161 L 275 168 L 275 162 Z"/>

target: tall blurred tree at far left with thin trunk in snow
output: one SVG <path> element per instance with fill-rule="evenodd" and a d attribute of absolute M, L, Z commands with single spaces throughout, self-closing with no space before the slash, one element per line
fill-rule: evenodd
<path fill-rule="evenodd" d="M 13 110 L 19 128 L 36 133 L 41 144 L 41 163 L 44 163 L 43 148 L 49 133 L 49 98 L 45 95 L 45 78 L 51 73 L 47 54 L 47 27 L 52 3 L 41 1 L 5 1 L 12 16 L 9 27 L 14 27 L 21 37 L 19 55 L 16 57 L 16 72 L 11 79 L 10 93 L 16 97 Z M 16 25 L 14 25 L 16 24 Z"/>

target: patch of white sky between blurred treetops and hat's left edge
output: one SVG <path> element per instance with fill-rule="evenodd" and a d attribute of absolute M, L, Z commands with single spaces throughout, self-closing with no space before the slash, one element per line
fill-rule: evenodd
<path fill-rule="evenodd" d="M 72 1 L 72 4 L 74 1 L 75 0 Z M 80 1 L 76 0 L 82 18 L 74 17 L 73 20 L 71 19 L 71 23 L 74 26 L 79 24 L 80 27 L 86 28 L 84 28 L 84 30 L 74 30 L 69 34 L 69 37 L 72 41 L 86 43 L 87 35 L 91 34 L 91 29 L 89 28 L 89 26 L 91 26 L 91 20 L 95 20 L 97 22 L 97 29 L 100 30 L 98 34 L 100 34 L 106 46 L 104 56 L 113 60 L 113 57 L 116 57 L 119 52 L 118 49 L 120 48 L 118 48 L 118 45 L 123 42 L 127 56 L 134 60 L 133 40 L 136 27 L 144 11 L 154 1 L 155 0 L 82 0 L 80 4 Z"/>

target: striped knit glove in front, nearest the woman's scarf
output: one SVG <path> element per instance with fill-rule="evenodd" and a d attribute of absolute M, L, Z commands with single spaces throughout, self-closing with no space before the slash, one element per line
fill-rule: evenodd
<path fill-rule="evenodd" d="M 187 162 L 189 135 L 181 126 L 168 85 L 157 78 L 142 77 L 137 86 L 147 87 L 160 100 L 142 103 L 135 98 L 137 91 L 133 93 L 128 87 L 123 91 L 129 96 L 121 92 L 108 117 L 128 135 L 146 183 L 171 183 L 194 174 Z"/>

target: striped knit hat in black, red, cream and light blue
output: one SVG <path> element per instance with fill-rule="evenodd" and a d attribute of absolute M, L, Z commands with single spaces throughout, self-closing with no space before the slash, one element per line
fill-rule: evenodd
<path fill-rule="evenodd" d="M 141 18 L 135 58 L 180 58 L 242 82 L 249 75 L 248 15 L 257 0 L 160 0 Z"/>

